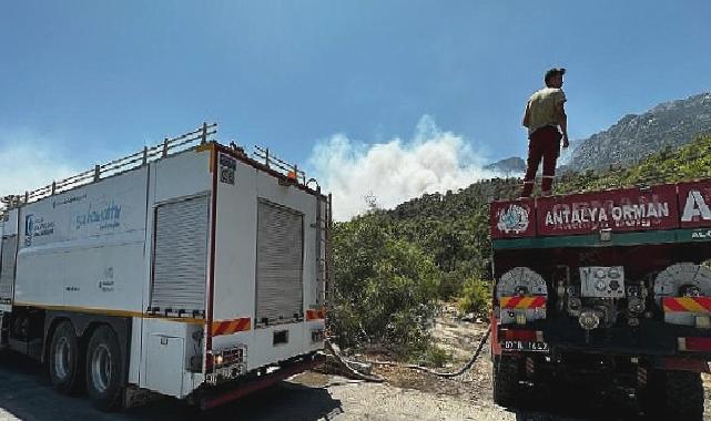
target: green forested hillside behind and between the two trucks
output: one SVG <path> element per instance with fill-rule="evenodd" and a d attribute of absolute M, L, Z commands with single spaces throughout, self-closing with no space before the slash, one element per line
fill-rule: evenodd
<path fill-rule="evenodd" d="M 638 165 L 569 173 L 556 193 L 711 176 L 711 135 L 667 147 Z M 404 357 L 428 348 L 437 300 L 486 311 L 490 285 L 488 204 L 518 196 L 520 179 L 495 178 L 429 194 L 334 226 L 331 329 L 344 346 L 378 343 Z"/>

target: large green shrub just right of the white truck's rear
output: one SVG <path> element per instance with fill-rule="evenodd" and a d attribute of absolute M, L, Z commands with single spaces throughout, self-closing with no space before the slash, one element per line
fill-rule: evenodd
<path fill-rule="evenodd" d="M 416 245 L 372 213 L 336 224 L 328 328 L 342 347 L 377 343 L 402 357 L 429 343 L 440 273 Z"/>

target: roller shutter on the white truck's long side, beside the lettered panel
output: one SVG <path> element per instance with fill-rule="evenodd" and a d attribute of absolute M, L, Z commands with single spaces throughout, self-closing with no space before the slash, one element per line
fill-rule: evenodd
<path fill-rule="evenodd" d="M 152 310 L 204 317 L 209 210 L 209 196 L 158 207 Z"/>

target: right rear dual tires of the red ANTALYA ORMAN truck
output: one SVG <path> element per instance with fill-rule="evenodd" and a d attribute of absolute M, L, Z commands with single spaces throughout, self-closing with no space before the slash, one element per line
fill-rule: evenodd
<path fill-rule="evenodd" d="M 654 370 L 642 400 L 646 418 L 700 421 L 703 418 L 701 374 Z"/>

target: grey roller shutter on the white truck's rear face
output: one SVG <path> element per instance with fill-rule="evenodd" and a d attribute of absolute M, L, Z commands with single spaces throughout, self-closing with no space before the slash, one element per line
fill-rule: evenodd
<path fill-rule="evenodd" d="M 303 318 L 303 214 L 257 204 L 256 325 Z"/>

